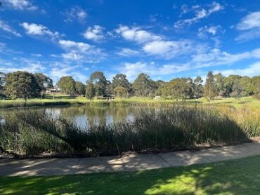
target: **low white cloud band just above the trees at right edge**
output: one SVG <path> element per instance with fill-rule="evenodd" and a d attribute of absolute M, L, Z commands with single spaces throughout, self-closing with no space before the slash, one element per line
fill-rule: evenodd
<path fill-rule="evenodd" d="M 228 76 L 230 74 L 239 74 L 241 76 L 256 76 L 260 75 L 260 62 L 255 62 L 254 64 L 242 69 L 215 70 L 214 72 L 221 72 L 223 76 Z"/>

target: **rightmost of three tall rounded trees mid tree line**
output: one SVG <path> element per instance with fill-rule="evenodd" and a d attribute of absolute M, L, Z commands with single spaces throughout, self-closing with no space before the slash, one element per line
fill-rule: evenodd
<path fill-rule="evenodd" d="M 155 81 L 147 74 L 141 73 L 133 83 L 134 94 L 136 96 L 148 96 L 155 93 L 157 86 Z"/>

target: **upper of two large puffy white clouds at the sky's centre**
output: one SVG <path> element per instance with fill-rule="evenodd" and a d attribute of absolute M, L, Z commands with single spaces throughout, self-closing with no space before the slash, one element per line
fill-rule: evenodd
<path fill-rule="evenodd" d="M 128 41 L 135 41 L 136 43 L 145 43 L 148 41 L 158 41 L 162 39 L 162 36 L 152 34 L 147 32 L 140 27 L 127 27 L 120 26 L 115 30 L 118 34 L 120 34 L 124 39 Z"/>

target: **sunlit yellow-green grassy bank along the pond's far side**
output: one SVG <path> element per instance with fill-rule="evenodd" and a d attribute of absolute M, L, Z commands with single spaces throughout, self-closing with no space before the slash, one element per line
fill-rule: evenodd
<path fill-rule="evenodd" d="M 149 99 L 148 97 L 131 97 L 131 98 L 116 98 L 112 100 L 113 102 L 123 102 L 126 104 L 134 103 L 141 105 L 159 105 L 159 104 L 174 104 L 180 103 L 176 102 L 176 100 L 164 100 L 164 99 Z M 71 97 L 56 97 L 55 100 L 51 98 L 46 99 L 30 99 L 27 100 L 27 104 L 25 104 L 25 100 L 0 100 L 0 108 L 11 108 L 11 107 L 47 107 L 47 106 L 55 106 L 55 105 L 88 105 L 89 103 L 106 103 L 106 100 L 87 100 L 85 97 L 71 98 Z M 200 105 L 208 105 L 209 103 L 204 98 L 200 98 L 198 100 L 185 100 L 182 103 L 188 104 L 200 104 Z M 213 100 L 212 105 L 230 105 L 233 107 L 260 107 L 260 100 L 256 100 L 253 97 L 242 97 L 240 99 L 235 98 L 222 98 L 219 100 Z"/>

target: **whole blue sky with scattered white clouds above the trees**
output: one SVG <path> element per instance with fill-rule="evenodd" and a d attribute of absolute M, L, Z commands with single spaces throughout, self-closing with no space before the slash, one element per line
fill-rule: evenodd
<path fill-rule="evenodd" d="M 0 72 L 260 75 L 260 0 L 0 1 Z"/>

